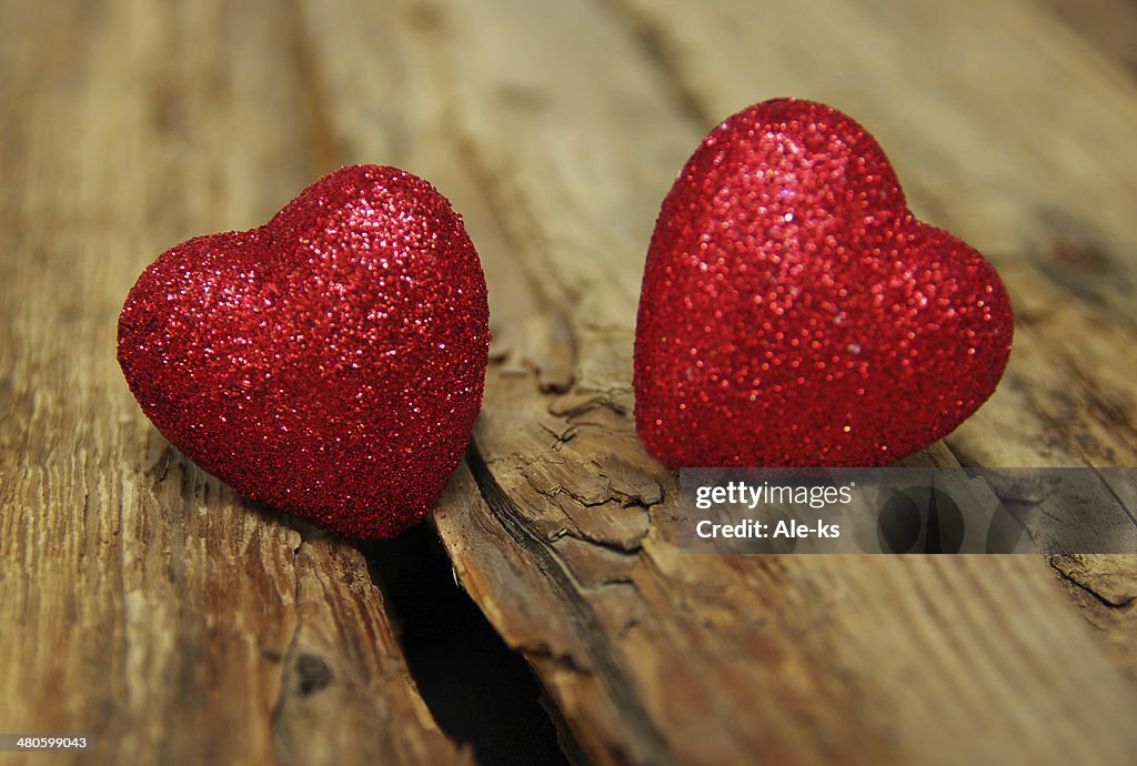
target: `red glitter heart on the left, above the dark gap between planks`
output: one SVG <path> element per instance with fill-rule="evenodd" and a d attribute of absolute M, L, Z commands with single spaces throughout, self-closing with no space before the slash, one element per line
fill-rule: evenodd
<path fill-rule="evenodd" d="M 198 466 L 314 524 L 387 538 L 431 509 L 481 406 L 485 278 L 438 190 L 340 169 L 266 225 L 199 236 L 139 277 L 118 360 Z"/>

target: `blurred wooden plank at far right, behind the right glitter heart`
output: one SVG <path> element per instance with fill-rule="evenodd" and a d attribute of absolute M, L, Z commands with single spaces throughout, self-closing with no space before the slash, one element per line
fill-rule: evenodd
<path fill-rule="evenodd" d="M 961 460 L 1132 465 L 1137 82 L 1107 50 L 1029 0 L 626 8 L 708 123 L 781 92 L 856 105 L 913 209 L 1001 268 L 1015 348 L 999 392 L 948 439 Z M 1127 24 L 1121 8 L 1094 8 L 1098 26 Z M 1053 565 L 1137 677 L 1137 558 Z"/>

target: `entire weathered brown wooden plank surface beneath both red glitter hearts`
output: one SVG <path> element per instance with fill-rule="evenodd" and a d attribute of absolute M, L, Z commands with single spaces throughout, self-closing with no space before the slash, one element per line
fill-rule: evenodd
<path fill-rule="evenodd" d="M 0 30 L 0 731 L 96 735 L 51 763 L 474 761 L 358 547 L 184 460 L 115 361 L 158 252 L 379 163 L 483 259 L 485 406 L 435 524 L 579 756 L 1137 763 L 1137 557 L 684 557 L 630 416 L 663 194 L 798 95 L 1016 307 L 998 393 L 914 459 L 1134 465 L 1131 1 L 8 0 Z"/>

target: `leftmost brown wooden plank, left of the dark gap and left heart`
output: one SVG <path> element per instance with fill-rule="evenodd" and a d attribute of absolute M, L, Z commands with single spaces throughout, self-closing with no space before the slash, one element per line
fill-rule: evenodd
<path fill-rule="evenodd" d="M 0 727 L 94 735 L 52 763 L 472 763 L 363 556 L 189 465 L 115 363 L 150 259 L 263 222 L 323 161 L 296 19 L 2 13 Z"/>

